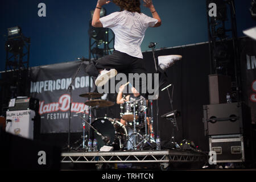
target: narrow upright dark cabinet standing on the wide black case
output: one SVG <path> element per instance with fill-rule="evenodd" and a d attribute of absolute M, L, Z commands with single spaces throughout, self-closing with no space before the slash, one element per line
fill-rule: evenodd
<path fill-rule="evenodd" d="M 226 94 L 231 95 L 231 78 L 225 75 L 209 75 L 210 104 L 226 103 Z"/>

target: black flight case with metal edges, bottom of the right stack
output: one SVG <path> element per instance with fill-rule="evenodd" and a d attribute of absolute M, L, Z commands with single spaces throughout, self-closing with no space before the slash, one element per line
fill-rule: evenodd
<path fill-rule="evenodd" d="M 245 162 L 242 135 L 216 135 L 209 137 L 209 150 L 216 152 L 216 163 Z"/>

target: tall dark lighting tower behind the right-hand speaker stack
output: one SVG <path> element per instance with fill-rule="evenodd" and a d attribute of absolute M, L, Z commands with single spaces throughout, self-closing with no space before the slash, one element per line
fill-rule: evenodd
<path fill-rule="evenodd" d="M 210 3 L 216 4 L 216 16 L 208 15 Z M 207 0 L 207 21 L 210 74 L 232 76 L 233 96 L 239 101 L 240 56 L 234 0 Z"/>

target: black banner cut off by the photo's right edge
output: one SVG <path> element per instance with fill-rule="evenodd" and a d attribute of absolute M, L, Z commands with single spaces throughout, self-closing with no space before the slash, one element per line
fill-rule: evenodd
<path fill-rule="evenodd" d="M 250 107 L 251 122 L 256 123 L 256 42 L 246 38 L 241 44 L 243 100 Z"/>

